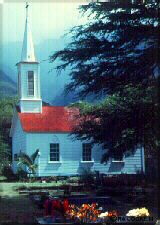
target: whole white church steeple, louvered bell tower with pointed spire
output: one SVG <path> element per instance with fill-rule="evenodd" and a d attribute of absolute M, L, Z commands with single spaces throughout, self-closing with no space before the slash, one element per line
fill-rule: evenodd
<path fill-rule="evenodd" d="M 18 98 L 21 113 L 42 113 L 40 93 L 40 68 L 34 53 L 30 30 L 28 3 L 26 3 L 26 24 L 23 38 L 21 61 L 18 68 Z"/>

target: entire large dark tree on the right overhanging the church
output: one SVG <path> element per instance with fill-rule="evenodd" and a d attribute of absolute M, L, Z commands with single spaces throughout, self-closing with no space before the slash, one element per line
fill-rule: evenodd
<path fill-rule="evenodd" d="M 133 2 L 133 1 L 132 1 Z M 103 160 L 122 158 L 139 146 L 153 153 L 157 137 L 158 3 L 115 1 L 80 7 L 88 23 L 71 30 L 72 42 L 50 57 L 70 66 L 66 91 L 94 94 L 98 104 L 79 103 L 74 134 L 108 149 Z"/>

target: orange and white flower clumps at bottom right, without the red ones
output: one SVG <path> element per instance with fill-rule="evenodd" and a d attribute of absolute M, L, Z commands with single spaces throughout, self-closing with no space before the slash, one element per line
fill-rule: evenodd
<path fill-rule="evenodd" d="M 123 223 L 129 224 L 130 222 L 134 224 L 154 224 L 154 221 L 150 221 L 152 217 L 146 208 L 137 208 L 130 210 L 126 216 L 120 216 L 116 210 L 102 212 L 102 208 L 98 207 L 98 204 L 92 203 L 83 204 L 78 207 L 74 204 L 69 205 L 68 210 L 66 211 L 66 217 L 76 223 L 116 223 L 120 224 L 123 219 Z M 123 224 L 122 223 L 122 224 Z"/>

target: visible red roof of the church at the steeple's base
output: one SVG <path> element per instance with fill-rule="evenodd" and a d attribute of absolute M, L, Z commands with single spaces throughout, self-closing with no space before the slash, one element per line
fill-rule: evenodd
<path fill-rule="evenodd" d="M 78 109 L 64 106 L 43 106 L 42 113 L 18 112 L 25 132 L 71 132 L 77 114 Z"/>

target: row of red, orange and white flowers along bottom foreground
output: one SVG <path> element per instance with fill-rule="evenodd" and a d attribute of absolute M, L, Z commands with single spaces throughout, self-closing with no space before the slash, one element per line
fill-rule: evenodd
<path fill-rule="evenodd" d="M 145 224 L 148 225 L 155 224 L 153 218 L 150 217 L 150 214 L 146 208 L 137 208 L 132 209 L 122 215 L 117 210 L 107 210 L 106 212 L 102 207 L 99 207 L 97 202 L 91 204 L 73 204 L 71 199 L 63 198 L 50 198 L 45 200 L 44 209 L 45 217 L 51 217 L 52 221 L 56 221 L 56 215 L 60 215 L 63 222 L 71 221 L 74 224 Z M 114 206 L 116 208 L 116 206 Z M 108 207 L 104 207 L 109 209 Z M 118 209 L 118 208 L 117 208 Z M 119 209 L 120 210 L 120 209 Z M 49 219 L 50 220 L 50 219 Z"/>

